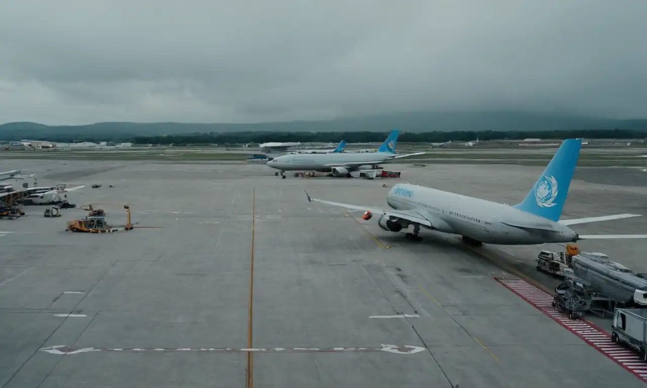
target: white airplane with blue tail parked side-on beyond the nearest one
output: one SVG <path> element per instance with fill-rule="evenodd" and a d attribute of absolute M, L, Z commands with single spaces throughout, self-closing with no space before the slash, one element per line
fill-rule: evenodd
<path fill-rule="evenodd" d="M 384 144 L 373 153 L 327 153 L 311 155 L 283 155 L 267 162 L 267 166 L 281 171 L 331 172 L 334 177 L 351 177 L 353 171 L 375 171 L 378 164 L 406 156 L 422 155 L 424 152 L 397 155 L 395 144 L 399 131 L 392 131 Z M 362 169 L 371 166 L 372 169 Z"/>

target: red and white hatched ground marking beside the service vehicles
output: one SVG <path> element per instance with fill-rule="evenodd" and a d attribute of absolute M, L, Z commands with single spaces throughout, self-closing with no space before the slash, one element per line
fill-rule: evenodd
<path fill-rule="evenodd" d="M 553 321 L 582 338 L 598 352 L 630 371 L 637 378 L 647 382 L 647 363 L 642 361 L 630 349 L 611 342 L 611 336 L 597 325 L 584 319 L 570 319 L 562 310 L 554 308 L 551 294 L 531 285 L 521 277 L 495 277 L 494 279 L 543 312 L 543 314 L 552 318 Z"/>

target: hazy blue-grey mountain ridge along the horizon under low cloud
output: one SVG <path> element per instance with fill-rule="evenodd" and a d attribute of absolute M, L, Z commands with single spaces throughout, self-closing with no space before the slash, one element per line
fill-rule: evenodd
<path fill-rule="evenodd" d="M 0 140 L 53 140 L 93 138 L 126 140 L 134 136 L 188 135 L 192 133 L 255 132 L 401 132 L 432 131 L 569 131 L 576 129 L 647 129 L 647 119 L 615 120 L 554 113 L 524 112 L 419 112 L 393 113 L 320 121 L 250 124 L 186 124 L 103 122 L 89 125 L 43 125 L 14 122 L 0 125 Z"/>

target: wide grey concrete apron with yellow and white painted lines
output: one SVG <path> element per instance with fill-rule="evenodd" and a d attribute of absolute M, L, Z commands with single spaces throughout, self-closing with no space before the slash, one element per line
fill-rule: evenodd
<path fill-rule="evenodd" d="M 14 232 L 0 237 L 0 387 L 244 387 L 248 370 L 256 387 L 644 385 L 494 279 L 537 277 L 537 253 L 562 247 L 485 246 L 496 263 L 459 237 L 422 232 L 424 241 L 412 243 L 303 193 L 385 206 L 382 184 L 395 178 L 279 179 L 266 166 L 233 164 L 0 162 L 11 167 L 43 183 L 101 182 L 71 202 L 105 203 L 115 223 L 131 204 L 139 224 L 63 232 L 86 212 L 44 219 L 39 206 L 0 221 Z M 404 182 L 510 204 L 543 169 L 388 168 Z M 623 173 L 633 171 L 578 169 L 564 217 L 644 213 L 647 184 L 638 182 L 647 173 L 624 182 Z M 576 231 L 646 225 L 637 217 Z M 646 241 L 579 245 L 647 272 L 638 254 Z"/>

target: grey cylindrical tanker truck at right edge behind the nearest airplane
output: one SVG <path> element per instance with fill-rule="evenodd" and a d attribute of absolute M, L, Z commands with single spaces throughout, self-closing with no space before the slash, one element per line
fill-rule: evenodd
<path fill-rule="evenodd" d="M 567 272 L 588 283 L 592 291 L 613 299 L 619 307 L 647 307 L 645 275 L 634 274 L 626 266 L 609 260 L 604 253 L 580 252 L 573 256 Z"/>

